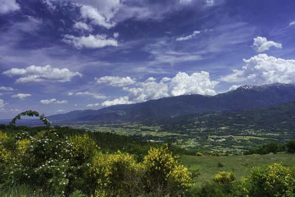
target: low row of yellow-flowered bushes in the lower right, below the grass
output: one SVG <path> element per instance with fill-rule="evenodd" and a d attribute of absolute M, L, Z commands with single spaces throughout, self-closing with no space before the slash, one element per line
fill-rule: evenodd
<path fill-rule="evenodd" d="M 211 182 L 191 191 L 193 197 L 295 197 L 295 168 L 258 166 L 241 181 L 233 172 L 219 172 Z"/>

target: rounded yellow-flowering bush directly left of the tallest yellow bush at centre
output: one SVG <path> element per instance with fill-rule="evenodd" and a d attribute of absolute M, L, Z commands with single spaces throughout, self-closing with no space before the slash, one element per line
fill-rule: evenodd
<path fill-rule="evenodd" d="M 128 153 L 103 155 L 99 153 L 93 158 L 87 175 L 90 177 L 89 186 L 95 189 L 97 197 L 136 196 L 143 186 L 141 164 L 136 164 Z M 129 195 L 127 195 L 129 194 Z"/>

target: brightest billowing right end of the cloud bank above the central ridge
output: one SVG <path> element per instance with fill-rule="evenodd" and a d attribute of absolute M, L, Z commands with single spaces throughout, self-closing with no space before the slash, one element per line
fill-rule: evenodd
<path fill-rule="evenodd" d="M 172 87 L 171 96 L 179 95 L 216 95 L 214 87 L 219 84 L 218 81 L 211 81 L 209 73 L 205 71 L 195 72 L 191 76 L 185 72 L 178 72 L 169 83 Z"/>

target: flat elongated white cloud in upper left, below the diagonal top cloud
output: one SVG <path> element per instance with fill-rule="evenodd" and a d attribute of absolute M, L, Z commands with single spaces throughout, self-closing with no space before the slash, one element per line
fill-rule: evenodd
<path fill-rule="evenodd" d="M 81 36 L 81 37 L 76 37 L 74 35 L 64 35 L 63 37 L 63 41 L 68 43 L 68 44 L 73 44 L 74 47 L 76 47 L 77 49 L 82 49 L 83 47 L 86 48 L 102 48 L 105 46 L 118 46 L 118 41 L 113 39 L 113 38 L 109 38 L 107 39 L 106 35 L 92 35 L 89 34 L 89 36 Z"/>

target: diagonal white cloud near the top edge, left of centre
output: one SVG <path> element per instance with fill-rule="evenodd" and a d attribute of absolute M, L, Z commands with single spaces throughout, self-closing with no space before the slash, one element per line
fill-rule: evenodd
<path fill-rule="evenodd" d="M 105 27 L 106 29 L 111 29 L 116 26 L 116 23 L 110 23 L 107 18 L 104 17 L 98 10 L 90 5 L 83 5 L 80 8 L 81 18 L 90 19 L 91 23 L 94 25 L 99 25 Z"/>

